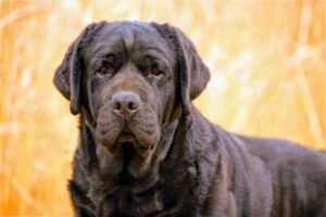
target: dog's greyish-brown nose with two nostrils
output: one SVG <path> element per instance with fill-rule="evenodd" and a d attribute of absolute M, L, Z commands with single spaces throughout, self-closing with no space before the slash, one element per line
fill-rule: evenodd
<path fill-rule="evenodd" d="M 117 92 L 112 95 L 112 110 L 121 115 L 133 114 L 139 110 L 139 97 L 129 91 Z"/>

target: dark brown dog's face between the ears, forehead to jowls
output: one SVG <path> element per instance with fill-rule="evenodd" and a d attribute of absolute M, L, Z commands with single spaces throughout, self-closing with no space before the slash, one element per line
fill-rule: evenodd
<path fill-rule="evenodd" d="M 153 27 L 121 23 L 106 25 L 83 53 L 96 138 L 114 156 L 133 144 L 147 157 L 174 108 L 175 53 Z"/>

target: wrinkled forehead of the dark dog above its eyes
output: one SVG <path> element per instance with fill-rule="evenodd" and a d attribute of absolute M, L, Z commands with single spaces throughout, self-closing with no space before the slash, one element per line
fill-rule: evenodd
<path fill-rule="evenodd" d="M 168 41 L 149 23 L 115 22 L 105 24 L 85 48 L 88 58 L 109 53 L 150 55 L 174 63 L 175 53 Z"/>

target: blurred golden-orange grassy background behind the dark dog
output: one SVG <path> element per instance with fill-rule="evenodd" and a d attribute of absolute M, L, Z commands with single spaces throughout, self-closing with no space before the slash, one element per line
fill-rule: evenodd
<path fill-rule="evenodd" d="M 168 22 L 211 69 L 196 100 L 213 123 L 326 150 L 326 2 L 0 2 L 0 216 L 72 216 L 77 118 L 52 85 L 90 22 Z"/>

